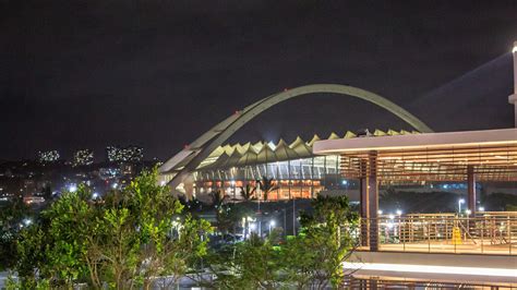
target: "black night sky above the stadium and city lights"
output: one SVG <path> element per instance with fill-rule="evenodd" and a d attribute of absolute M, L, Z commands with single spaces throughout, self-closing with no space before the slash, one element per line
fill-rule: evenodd
<path fill-rule="evenodd" d="M 165 159 L 284 88 L 375 92 L 436 131 L 509 128 L 516 1 L 0 0 L 0 159 L 136 144 Z M 232 141 L 410 129 L 309 95 Z"/>

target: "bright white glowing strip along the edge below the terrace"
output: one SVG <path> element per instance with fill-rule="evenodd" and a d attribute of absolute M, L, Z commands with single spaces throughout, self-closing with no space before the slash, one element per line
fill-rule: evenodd
<path fill-rule="evenodd" d="M 453 267 L 453 266 L 428 266 L 409 264 L 382 264 L 382 263 L 350 263 L 344 262 L 342 266 L 360 270 L 385 270 L 407 273 L 453 274 L 472 276 L 495 276 L 515 278 L 516 269 L 509 268 L 481 268 L 481 267 Z"/>

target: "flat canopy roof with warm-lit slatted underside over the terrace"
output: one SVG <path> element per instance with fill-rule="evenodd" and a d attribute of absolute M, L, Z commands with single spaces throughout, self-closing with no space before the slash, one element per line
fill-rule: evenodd
<path fill-rule="evenodd" d="M 377 135 L 320 141 L 315 154 L 340 154 L 346 177 L 392 181 L 517 181 L 517 129 Z"/>

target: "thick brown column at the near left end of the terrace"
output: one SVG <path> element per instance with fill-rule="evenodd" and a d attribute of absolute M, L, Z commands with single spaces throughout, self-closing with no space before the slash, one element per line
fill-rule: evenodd
<path fill-rule="evenodd" d="M 370 216 L 370 251 L 378 251 L 378 182 L 377 153 L 371 152 L 368 158 L 368 212 Z"/>

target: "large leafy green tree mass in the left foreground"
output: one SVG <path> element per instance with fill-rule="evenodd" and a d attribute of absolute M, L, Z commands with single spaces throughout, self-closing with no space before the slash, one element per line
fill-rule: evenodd
<path fill-rule="evenodd" d="M 190 215 L 181 220 L 183 206 L 156 180 L 156 169 L 144 171 L 104 201 L 92 201 L 84 185 L 64 193 L 23 231 L 16 266 L 22 285 L 71 288 L 85 281 L 96 289 L 105 282 L 149 289 L 163 275 L 176 282 L 206 254 L 212 229 Z"/>

